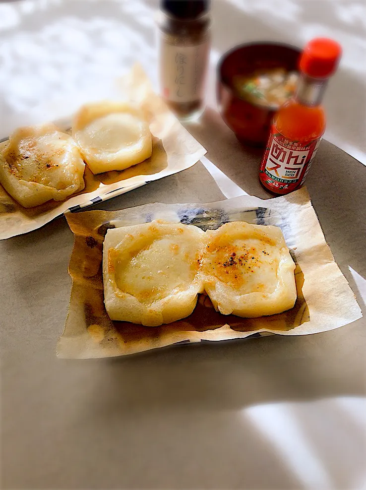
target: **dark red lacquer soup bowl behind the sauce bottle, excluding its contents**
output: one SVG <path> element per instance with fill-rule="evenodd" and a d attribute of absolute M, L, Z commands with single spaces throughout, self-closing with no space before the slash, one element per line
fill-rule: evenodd
<path fill-rule="evenodd" d="M 256 105 L 241 97 L 233 85 L 235 75 L 259 68 L 297 71 L 301 50 L 288 44 L 249 43 L 223 55 L 217 68 L 217 103 L 222 119 L 244 143 L 264 146 L 276 107 Z"/>

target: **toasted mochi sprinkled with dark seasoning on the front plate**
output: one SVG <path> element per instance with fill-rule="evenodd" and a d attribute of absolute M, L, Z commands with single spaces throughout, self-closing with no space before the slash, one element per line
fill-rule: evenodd
<path fill-rule="evenodd" d="M 237 221 L 206 234 L 201 274 L 216 310 L 256 317 L 294 306 L 295 264 L 280 228 Z"/>

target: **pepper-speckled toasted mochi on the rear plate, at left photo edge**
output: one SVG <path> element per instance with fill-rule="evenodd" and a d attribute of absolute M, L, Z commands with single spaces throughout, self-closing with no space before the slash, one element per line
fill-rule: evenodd
<path fill-rule="evenodd" d="M 0 151 L 0 183 L 26 208 L 82 190 L 84 169 L 75 141 L 51 123 L 16 129 Z"/>

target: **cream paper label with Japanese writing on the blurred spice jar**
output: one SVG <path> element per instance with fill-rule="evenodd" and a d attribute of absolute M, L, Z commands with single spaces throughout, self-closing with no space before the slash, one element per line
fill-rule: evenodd
<path fill-rule="evenodd" d="M 174 102 L 203 98 L 209 41 L 198 46 L 174 46 L 162 42 L 161 83 L 163 95 Z"/>

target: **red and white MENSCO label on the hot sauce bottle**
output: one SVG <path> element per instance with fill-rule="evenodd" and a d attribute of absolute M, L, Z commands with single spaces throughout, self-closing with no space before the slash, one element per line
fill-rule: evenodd
<path fill-rule="evenodd" d="M 291 141 L 272 124 L 268 144 L 260 164 L 260 180 L 277 193 L 287 194 L 304 184 L 321 137 Z"/>

